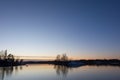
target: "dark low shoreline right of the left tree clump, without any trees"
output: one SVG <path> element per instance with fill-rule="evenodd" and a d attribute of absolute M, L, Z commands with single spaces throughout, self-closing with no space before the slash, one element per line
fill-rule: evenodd
<path fill-rule="evenodd" d="M 26 61 L 24 64 L 53 64 L 62 65 L 67 67 L 79 67 L 85 65 L 96 66 L 120 66 L 120 60 L 118 59 L 96 59 L 96 60 L 68 60 L 68 61 Z"/>

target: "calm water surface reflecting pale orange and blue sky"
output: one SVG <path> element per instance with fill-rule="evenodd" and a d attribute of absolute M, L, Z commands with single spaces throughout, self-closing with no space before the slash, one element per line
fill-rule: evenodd
<path fill-rule="evenodd" d="M 0 80 L 120 80 L 120 67 L 54 65 L 0 67 Z"/>

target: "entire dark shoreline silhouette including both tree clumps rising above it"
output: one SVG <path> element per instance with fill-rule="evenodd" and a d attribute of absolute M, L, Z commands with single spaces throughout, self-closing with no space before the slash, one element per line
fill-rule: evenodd
<path fill-rule="evenodd" d="M 23 61 L 23 59 L 15 59 L 14 55 L 8 54 L 7 50 L 0 52 L 0 66 L 18 66 L 23 64 L 53 64 L 66 67 L 80 67 L 85 65 L 95 66 L 120 66 L 119 59 L 91 59 L 91 60 L 70 60 L 66 54 L 57 55 L 52 61 Z"/>

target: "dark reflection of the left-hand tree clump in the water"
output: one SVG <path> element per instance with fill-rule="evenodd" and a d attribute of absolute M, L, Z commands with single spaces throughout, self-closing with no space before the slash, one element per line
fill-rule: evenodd
<path fill-rule="evenodd" d="M 4 80 L 4 76 L 11 76 L 14 70 L 18 71 L 18 67 L 0 67 L 0 80 Z M 20 66 L 20 70 L 22 70 L 22 66 Z"/>

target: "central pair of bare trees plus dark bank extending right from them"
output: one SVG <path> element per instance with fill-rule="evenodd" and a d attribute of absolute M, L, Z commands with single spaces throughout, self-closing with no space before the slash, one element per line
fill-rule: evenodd
<path fill-rule="evenodd" d="M 119 66 L 119 59 L 91 59 L 91 60 L 69 60 L 66 54 L 57 55 L 55 65 L 62 65 L 67 67 L 80 67 L 85 65 L 94 65 L 94 66 Z"/>

